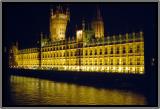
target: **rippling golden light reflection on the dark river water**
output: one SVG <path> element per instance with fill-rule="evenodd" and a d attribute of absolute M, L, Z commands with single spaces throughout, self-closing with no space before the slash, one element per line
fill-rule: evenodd
<path fill-rule="evenodd" d="M 145 105 L 143 95 L 37 78 L 11 76 L 16 105 Z"/>

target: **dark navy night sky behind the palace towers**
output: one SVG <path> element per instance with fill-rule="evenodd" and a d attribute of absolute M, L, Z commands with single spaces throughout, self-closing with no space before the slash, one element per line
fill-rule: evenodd
<path fill-rule="evenodd" d="M 20 48 L 36 45 L 40 32 L 49 34 L 50 9 L 55 3 L 7 3 L 3 4 L 3 38 L 6 46 L 18 40 Z M 70 9 L 68 34 L 75 34 L 76 25 L 81 26 L 82 18 L 87 22 L 95 16 L 97 4 L 62 4 Z M 102 3 L 99 4 L 104 20 L 105 36 L 126 32 L 144 31 L 147 40 L 155 40 L 156 4 L 143 3 Z M 148 36 L 147 36 L 148 35 Z M 151 39 L 152 40 L 152 39 Z M 153 41 L 150 42 L 153 45 Z"/>

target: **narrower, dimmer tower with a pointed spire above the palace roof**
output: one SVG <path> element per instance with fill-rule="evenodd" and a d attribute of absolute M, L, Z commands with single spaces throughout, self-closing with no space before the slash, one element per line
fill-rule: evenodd
<path fill-rule="evenodd" d="M 104 37 L 104 23 L 103 23 L 102 16 L 100 14 L 100 9 L 98 7 L 97 7 L 96 17 L 92 21 L 91 27 L 95 32 L 96 38 Z"/>

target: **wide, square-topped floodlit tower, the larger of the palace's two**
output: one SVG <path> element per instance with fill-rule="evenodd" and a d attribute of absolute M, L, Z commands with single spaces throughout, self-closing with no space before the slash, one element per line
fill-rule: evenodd
<path fill-rule="evenodd" d="M 56 11 L 51 10 L 50 18 L 50 38 L 51 41 L 65 40 L 66 27 L 70 19 L 70 12 L 58 6 Z"/>

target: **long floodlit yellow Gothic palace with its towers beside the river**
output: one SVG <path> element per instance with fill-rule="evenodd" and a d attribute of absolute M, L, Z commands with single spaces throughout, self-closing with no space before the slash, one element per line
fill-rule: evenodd
<path fill-rule="evenodd" d="M 39 46 L 9 51 L 9 67 L 80 72 L 144 74 L 144 34 L 142 31 L 104 35 L 100 9 L 87 28 L 82 20 L 76 35 L 66 36 L 69 9 L 58 6 L 50 12 L 50 35 L 40 34 Z"/>

